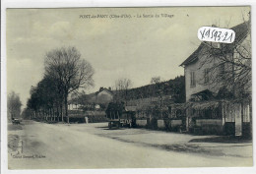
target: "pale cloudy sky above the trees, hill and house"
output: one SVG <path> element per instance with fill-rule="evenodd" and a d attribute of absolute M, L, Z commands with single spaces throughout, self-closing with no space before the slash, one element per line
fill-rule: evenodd
<path fill-rule="evenodd" d="M 63 46 L 75 46 L 94 67 L 95 87 L 87 88 L 87 93 L 114 87 L 122 78 L 130 79 L 133 87 L 148 85 L 156 76 L 174 79 L 184 75 L 179 65 L 201 43 L 199 28 L 231 28 L 248 20 L 249 11 L 249 7 L 8 9 L 7 91 L 19 93 L 26 107 L 31 87 L 43 77 L 45 53 Z M 110 15 L 131 18 L 110 19 Z"/>

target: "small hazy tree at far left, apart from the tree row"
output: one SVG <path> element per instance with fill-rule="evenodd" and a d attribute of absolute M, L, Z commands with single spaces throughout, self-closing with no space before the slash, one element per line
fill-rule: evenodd
<path fill-rule="evenodd" d="M 22 102 L 19 94 L 12 91 L 7 98 L 8 117 L 13 119 L 14 117 L 20 117 Z"/>

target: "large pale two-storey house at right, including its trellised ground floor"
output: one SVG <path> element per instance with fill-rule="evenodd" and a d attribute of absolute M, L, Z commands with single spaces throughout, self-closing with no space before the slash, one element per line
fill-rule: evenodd
<path fill-rule="evenodd" d="M 251 136 L 250 20 L 231 29 L 233 43 L 203 41 L 180 65 L 187 131 Z"/>

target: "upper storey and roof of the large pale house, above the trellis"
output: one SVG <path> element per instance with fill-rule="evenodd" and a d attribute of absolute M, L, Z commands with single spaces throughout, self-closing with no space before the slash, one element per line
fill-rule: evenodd
<path fill-rule="evenodd" d="M 236 64 L 238 65 L 238 61 L 241 61 L 239 56 L 250 54 L 249 24 L 249 22 L 245 22 L 231 28 L 235 31 L 235 40 L 233 43 L 203 41 L 199 47 L 182 62 L 180 66 L 184 67 L 186 101 L 213 99 L 213 96 L 217 95 L 219 90 L 228 83 L 227 81 L 229 81 L 230 84 L 233 81 L 239 81 L 238 77 L 231 75 L 232 72 L 236 73 L 238 71 L 235 66 Z M 240 51 L 242 52 L 241 54 L 237 53 L 237 50 L 241 48 L 247 48 L 248 53 L 245 53 L 244 50 L 243 52 Z M 245 58 L 244 61 L 246 60 Z M 250 60 L 248 60 L 247 63 L 251 64 Z M 246 63 L 242 65 L 246 65 Z M 251 77 L 249 78 L 251 79 Z M 250 87 L 251 85 L 249 88 Z"/>

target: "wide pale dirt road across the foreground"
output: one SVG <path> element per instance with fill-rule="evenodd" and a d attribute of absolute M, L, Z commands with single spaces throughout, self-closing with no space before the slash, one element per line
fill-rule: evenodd
<path fill-rule="evenodd" d="M 23 126 L 9 129 L 8 132 L 9 168 L 86 169 L 252 165 L 251 143 L 193 143 L 191 140 L 197 140 L 198 137 L 142 129 L 108 130 L 105 128 L 106 125 L 106 123 L 51 125 L 24 122 Z"/>

